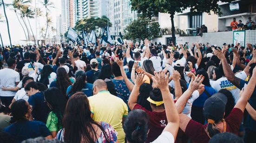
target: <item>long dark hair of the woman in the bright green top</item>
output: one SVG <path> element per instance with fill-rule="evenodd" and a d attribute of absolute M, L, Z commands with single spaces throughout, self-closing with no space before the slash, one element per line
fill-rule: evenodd
<path fill-rule="evenodd" d="M 58 131 L 61 129 L 62 126 L 62 117 L 65 112 L 65 107 L 67 103 L 67 99 L 64 95 L 60 92 L 60 90 L 56 87 L 51 87 L 45 90 L 44 92 L 46 103 L 49 106 L 51 111 L 57 116 L 57 129 Z M 53 114 L 52 114 L 53 116 Z M 52 118 L 51 118 L 52 120 Z M 50 121 L 50 125 L 52 121 Z"/>

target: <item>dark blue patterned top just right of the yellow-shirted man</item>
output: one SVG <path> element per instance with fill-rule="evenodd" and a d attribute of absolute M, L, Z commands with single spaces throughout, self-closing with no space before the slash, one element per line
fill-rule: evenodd
<path fill-rule="evenodd" d="M 129 79 L 131 81 L 131 79 Z M 125 84 L 124 80 L 115 80 L 112 79 L 113 83 L 115 84 L 115 89 L 118 92 L 117 96 L 124 100 L 126 104 L 128 104 L 128 99 L 131 94 L 130 90 Z M 131 81 L 132 82 L 132 81 Z"/>

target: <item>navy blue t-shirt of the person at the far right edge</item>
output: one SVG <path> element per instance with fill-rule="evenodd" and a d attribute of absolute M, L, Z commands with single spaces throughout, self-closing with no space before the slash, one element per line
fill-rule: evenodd
<path fill-rule="evenodd" d="M 240 81 L 240 87 L 239 89 L 242 90 L 244 87 L 244 84 L 248 84 L 249 81 Z M 256 88 L 254 88 L 254 91 L 249 99 L 249 104 L 253 107 L 254 110 L 256 110 Z M 251 118 L 251 116 L 248 114 L 245 122 L 245 127 L 249 130 L 256 131 L 256 121 Z"/>

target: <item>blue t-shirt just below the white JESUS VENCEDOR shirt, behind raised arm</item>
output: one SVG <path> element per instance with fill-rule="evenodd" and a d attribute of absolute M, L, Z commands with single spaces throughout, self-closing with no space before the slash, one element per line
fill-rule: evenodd
<path fill-rule="evenodd" d="M 210 96 L 214 93 L 217 93 L 214 88 L 208 86 L 204 86 L 204 90 L 206 90 L 210 94 Z M 208 95 L 204 91 L 197 99 L 195 99 L 192 106 L 203 107 L 205 100 L 208 98 Z"/>

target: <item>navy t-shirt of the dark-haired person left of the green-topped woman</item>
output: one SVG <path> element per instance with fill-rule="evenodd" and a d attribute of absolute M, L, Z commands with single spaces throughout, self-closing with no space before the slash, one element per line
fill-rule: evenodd
<path fill-rule="evenodd" d="M 30 96 L 27 102 L 33 106 L 32 116 L 36 121 L 46 123 L 48 117 L 49 108 L 45 103 L 45 97 L 42 92 L 35 93 Z"/>

